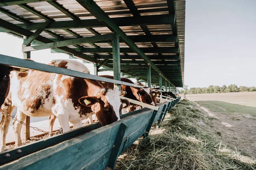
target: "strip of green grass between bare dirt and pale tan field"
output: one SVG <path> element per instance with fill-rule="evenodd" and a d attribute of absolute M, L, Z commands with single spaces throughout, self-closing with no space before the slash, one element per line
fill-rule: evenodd
<path fill-rule="evenodd" d="M 221 101 L 195 101 L 198 104 L 209 108 L 209 111 L 220 113 L 247 113 L 256 116 L 256 108 L 244 105 L 237 105 Z"/>

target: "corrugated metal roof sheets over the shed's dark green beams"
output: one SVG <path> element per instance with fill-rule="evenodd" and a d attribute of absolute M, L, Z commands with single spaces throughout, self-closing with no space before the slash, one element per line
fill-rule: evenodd
<path fill-rule="evenodd" d="M 5 0 L 3 0 L 4 2 Z M 57 1 L 41 1 L 36 2 L 37 0 L 32 0 L 27 4 L 21 4 L 17 0 L 17 5 L 3 6 L 3 2 L 0 3 L 0 19 L 6 20 L 9 23 L 13 24 L 22 24 L 23 28 L 30 30 L 31 26 L 35 26 L 38 23 L 45 22 L 46 20 L 55 21 L 59 23 L 61 21 L 73 21 L 73 20 L 89 20 L 90 22 L 96 20 L 92 14 L 90 14 L 83 6 L 81 6 L 76 0 L 57 0 Z M 39 1 L 39 0 L 38 0 Z M 185 42 L 185 0 L 133 0 L 134 6 L 128 7 L 125 4 L 125 0 L 94 0 L 96 4 L 105 11 L 111 18 L 116 18 L 116 24 L 119 26 L 122 31 L 125 32 L 128 36 L 134 35 L 175 35 L 177 34 L 177 42 L 174 41 L 164 41 L 163 42 L 135 42 L 135 44 L 144 50 L 144 53 L 150 58 L 150 56 L 159 56 L 159 59 L 152 59 L 155 62 L 155 65 L 166 74 L 170 81 L 177 87 L 182 87 L 184 84 L 184 42 Z M 15 2 L 12 2 L 14 4 Z M 2 5 L 1 5 L 2 4 Z M 56 8 L 56 5 L 60 6 L 63 10 L 66 10 L 68 14 L 65 14 L 63 11 Z M 172 10 L 172 5 L 174 4 L 175 10 Z M 131 9 L 132 8 L 132 9 Z M 144 24 L 143 21 L 136 21 L 132 23 L 129 21 L 129 25 L 126 24 L 126 20 L 130 20 L 131 17 L 137 16 L 157 16 L 151 24 Z M 163 24 L 157 23 L 158 19 L 161 20 L 166 15 L 175 14 L 175 22 L 168 23 L 168 20 L 164 20 Z M 15 16 L 15 17 L 14 17 Z M 121 18 L 122 17 L 122 18 Z M 146 21 L 147 23 L 148 21 Z M 166 24 L 166 22 L 168 24 Z M 23 24 L 24 23 L 24 24 Z M 0 25 L 1 27 L 1 25 Z M 177 30 L 176 30 L 177 28 Z M 5 31 L 1 29 L 0 31 Z M 31 29 L 30 31 L 35 31 Z M 50 28 L 47 31 L 42 32 L 40 35 L 49 39 L 62 38 L 61 40 L 67 38 L 76 38 L 76 37 L 90 37 L 95 34 L 108 34 L 111 33 L 111 30 L 106 26 L 96 25 L 92 28 L 76 28 L 72 26 L 69 28 L 69 24 L 64 25 L 61 28 Z M 140 38 L 140 37 L 138 37 Z M 121 41 L 121 40 L 120 40 Z M 111 42 L 96 42 L 96 43 L 87 43 L 79 44 L 79 48 L 111 48 Z M 70 45 L 70 48 L 76 49 L 78 46 Z M 178 51 L 168 51 L 166 48 L 178 47 Z M 124 42 L 120 42 L 120 48 L 128 48 Z M 145 48 L 148 48 L 149 52 Z M 133 52 L 122 52 L 121 55 L 137 55 Z M 90 53 L 88 53 L 90 54 Z M 100 54 L 111 54 L 111 53 L 100 53 Z M 92 54 L 90 54 L 92 55 Z M 170 59 L 161 59 L 161 56 L 169 55 Z M 172 59 L 171 55 L 179 56 L 180 59 Z M 125 61 L 125 64 L 134 64 L 135 61 L 143 62 L 143 59 L 122 59 Z M 163 61 L 161 63 L 161 60 Z M 121 61 L 121 64 L 123 64 Z M 130 62 L 129 62 L 130 61 Z M 173 61 L 180 61 L 180 69 L 177 67 L 172 67 Z M 145 63 L 146 64 L 146 63 Z M 166 66 L 169 65 L 169 69 Z M 165 67 L 163 67 L 165 66 Z M 171 74 L 175 70 L 180 72 L 180 74 Z M 145 72 L 145 73 L 144 73 Z M 157 72 L 151 69 L 152 74 Z M 136 70 L 130 71 L 129 74 L 132 75 L 143 75 L 142 79 L 146 78 L 146 68 L 141 69 L 141 72 Z M 152 79 L 151 81 L 154 84 L 158 84 L 157 79 Z"/>

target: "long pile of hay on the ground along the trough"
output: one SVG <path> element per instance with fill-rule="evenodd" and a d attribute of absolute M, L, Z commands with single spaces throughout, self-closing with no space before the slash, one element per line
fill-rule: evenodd
<path fill-rule="evenodd" d="M 223 146 L 209 119 L 188 101 L 180 101 L 161 122 L 160 134 L 139 139 L 116 163 L 116 170 L 256 170 L 255 160 Z M 197 122 L 204 122 L 199 125 Z"/>

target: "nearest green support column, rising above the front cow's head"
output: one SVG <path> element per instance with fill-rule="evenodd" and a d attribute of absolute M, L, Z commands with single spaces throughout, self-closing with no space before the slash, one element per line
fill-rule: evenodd
<path fill-rule="evenodd" d="M 113 72 L 114 79 L 121 80 L 121 69 L 120 69 L 120 48 L 119 48 L 119 34 L 116 34 L 116 38 L 112 40 L 113 47 Z M 114 85 L 115 88 L 121 90 L 121 85 Z"/>

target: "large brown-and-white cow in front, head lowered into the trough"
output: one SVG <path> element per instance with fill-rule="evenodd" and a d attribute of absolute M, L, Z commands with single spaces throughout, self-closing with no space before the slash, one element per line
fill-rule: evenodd
<path fill-rule="evenodd" d="M 32 61 L 31 61 L 32 62 Z M 89 70 L 74 60 L 53 60 L 49 65 L 71 69 L 84 73 Z M 69 122 L 74 129 L 82 126 L 81 121 L 96 114 L 102 126 L 120 119 L 122 109 L 120 95 L 125 91 L 116 88 L 104 88 L 99 81 L 82 79 L 61 74 L 53 74 L 35 70 L 23 72 L 11 71 L 10 91 L 2 106 L 2 110 L 12 114 L 17 107 L 16 118 L 22 122 L 26 116 L 43 117 L 55 115 L 63 129 L 70 130 Z M 0 124 L 1 150 L 6 150 L 6 134 L 10 117 L 3 115 Z M 20 130 L 22 124 L 13 122 L 15 131 L 15 147 L 21 145 Z"/>

